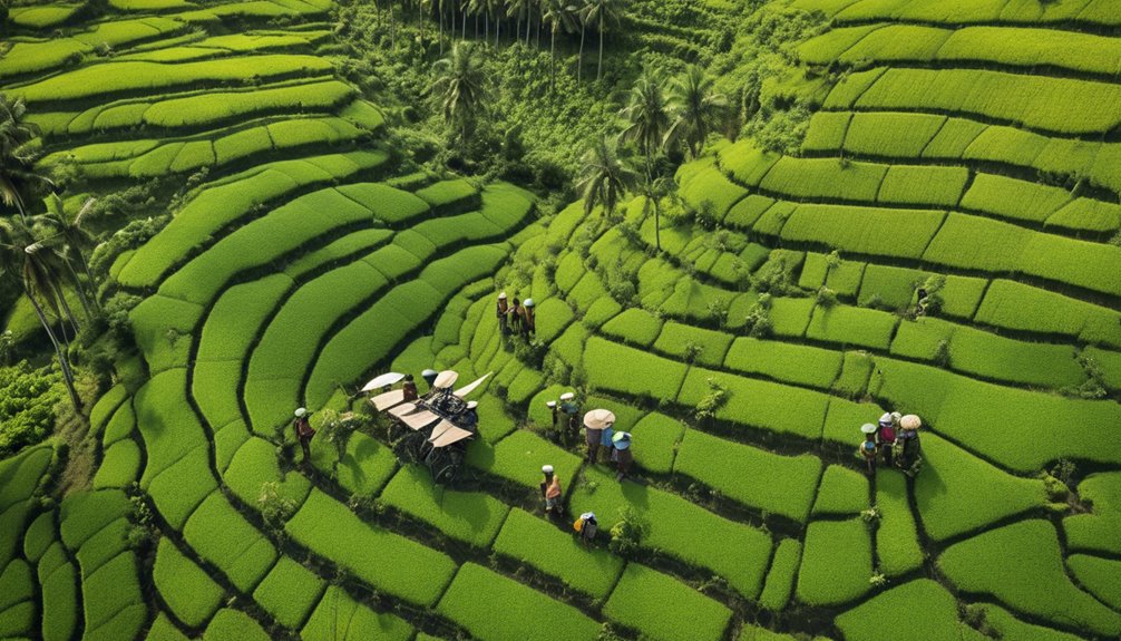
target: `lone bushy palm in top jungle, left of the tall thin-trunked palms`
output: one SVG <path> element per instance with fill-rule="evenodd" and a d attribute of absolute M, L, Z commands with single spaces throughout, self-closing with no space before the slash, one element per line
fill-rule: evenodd
<path fill-rule="evenodd" d="M 467 141 L 469 127 L 487 111 L 487 75 L 482 52 L 469 41 L 452 45 L 452 53 L 433 65 L 436 74 L 429 94 L 439 103 L 444 122 Z"/>

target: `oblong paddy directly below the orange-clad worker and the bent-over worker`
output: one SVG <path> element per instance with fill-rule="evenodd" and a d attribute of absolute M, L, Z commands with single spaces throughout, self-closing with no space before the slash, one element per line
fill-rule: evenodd
<path fill-rule="evenodd" d="M 601 532 L 605 535 L 606 531 Z M 592 598 L 608 597 L 626 563 L 604 549 L 584 546 L 567 529 L 557 529 L 518 508 L 510 510 L 493 549 Z"/>

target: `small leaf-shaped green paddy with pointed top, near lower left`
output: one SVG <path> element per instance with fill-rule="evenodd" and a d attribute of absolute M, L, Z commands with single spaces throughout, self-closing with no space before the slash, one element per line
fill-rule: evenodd
<path fill-rule="evenodd" d="M 225 596 L 225 591 L 167 538 L 159 541 L 152 580 L 172 612 L 191 628 L 210 621 Z"/>

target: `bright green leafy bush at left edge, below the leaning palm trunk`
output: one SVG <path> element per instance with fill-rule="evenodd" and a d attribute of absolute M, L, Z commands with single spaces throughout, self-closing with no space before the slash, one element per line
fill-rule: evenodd
<path fill-rule="evenodd" d="M 0 456 L 39 443 L 55 425 L 55 406 L 64 398 L 62 377 L 26 362 L 0 368 Z"/>

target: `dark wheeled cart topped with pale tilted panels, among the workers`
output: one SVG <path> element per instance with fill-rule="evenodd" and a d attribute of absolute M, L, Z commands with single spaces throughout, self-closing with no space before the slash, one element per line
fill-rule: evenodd
<path fill-rule="evenodd" d="M 370 405 L 392 419 L 390 439 L 401 461 L 421 463 L 436 483 L 446 484 L 460 473 L 466 457 L 467 443 L 478 434 L 478 402 L 465 400 L 490 374 L 456 390 L 458 373 L 426 370 L 421 374 L 429 391 L 419 397 L 411 378 L 397 372 L 382 374 L 362 389 L 383 390 L 370 398 Z M 405 380 L 400 389 L 388 389 Z"/>

